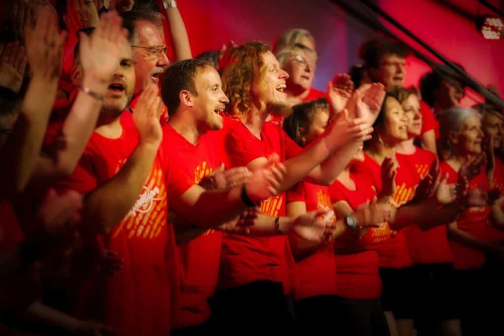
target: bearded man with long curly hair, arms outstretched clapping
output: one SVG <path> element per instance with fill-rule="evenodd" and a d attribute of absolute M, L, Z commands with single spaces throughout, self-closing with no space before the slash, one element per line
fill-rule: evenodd
<path fill-rule="evenodd" d="M 286 177 L 281 191 L 305 178 L 316 184 L 330 185 L 346 166 L 354 152 L 369 138 L 370 125 L 377 115 L 383 92 L 372 100 L 370 120 L 347 120 L 344 112 L 336 117 L 318 141 L 304 151 L 279 127 L 265 122 L 270 113 L 281 114 L 286 108 L 288 74 L 266 44 L 249 42 L 237 47 L 222 76 L 224 92 L 230 99 L 225 145 L 227 166 L 246 165 L 250 170 L 264 164 L 277 152 L 285 161 Z M 381 96 L 381 97 L 380 97 Z M 368 111 L 369 112 L 369 111 Z M 226 333 L 236 326 L 247 330 L 281 331 L 292 327 L 293 260 L 284 234 L 285 193 L 261 204 L 271 216 L 279 233 L 272 237 L 224 235 L 219 292 L 216 293 L 217 323 Z"/>

